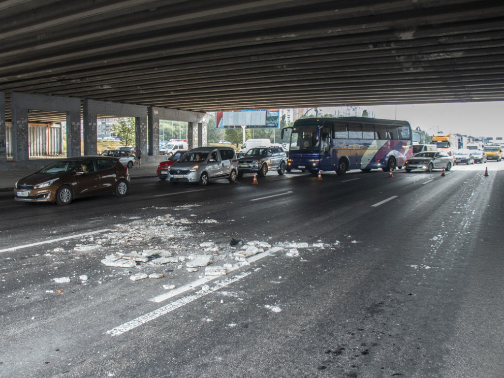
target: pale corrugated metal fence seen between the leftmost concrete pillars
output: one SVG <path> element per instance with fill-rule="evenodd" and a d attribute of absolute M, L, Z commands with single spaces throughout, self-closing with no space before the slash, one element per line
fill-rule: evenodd
<path fill-rule="evenodd" d="M 12 124 L 6 122 L 7 159 L 12 160 Z M 66 157 L 63 129 L 59 123 L 29 123 L 28 144 L 30 159 Z"/>

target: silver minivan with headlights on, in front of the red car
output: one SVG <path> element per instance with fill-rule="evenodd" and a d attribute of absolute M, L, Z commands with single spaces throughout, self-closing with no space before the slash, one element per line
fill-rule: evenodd
<path fill-rule="evenodd" d="M 238 160 L 230 147 L 198 147 L 183 154 L 170 166 L 170 182 L 198 182 L 208 184 L 210 179 L 236 179 Z"/>

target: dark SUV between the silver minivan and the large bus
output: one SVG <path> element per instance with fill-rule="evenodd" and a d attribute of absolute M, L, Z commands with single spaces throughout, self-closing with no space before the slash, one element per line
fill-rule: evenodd
<path fill-rule="evenodd" d="M 269 170 L 274 169 L 278 174 L 285 173 L 287 155 L 282 147 L 256 147 L 238 159 L 238 177 L 243 173 L 257 172 L 265 176 Z"/>

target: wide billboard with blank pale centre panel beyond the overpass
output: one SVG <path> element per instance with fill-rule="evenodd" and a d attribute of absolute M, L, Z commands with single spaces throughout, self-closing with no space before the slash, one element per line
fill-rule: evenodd
<path fill-rule="evenodd" d="M 216 111 L 216 129 L 234 129 L 246 126 L 247 129 L 278 129 L 279 109 Z"/>

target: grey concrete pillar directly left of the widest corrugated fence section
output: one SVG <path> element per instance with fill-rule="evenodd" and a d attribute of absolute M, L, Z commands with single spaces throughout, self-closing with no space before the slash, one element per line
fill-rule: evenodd
<path fill-rule="evenodd" d="M 12 157 L 15 161 L 30 160 L 28 138 L 28 108 L 18 98 L 18 93 L 11 94 L 12 114 Z"/>

